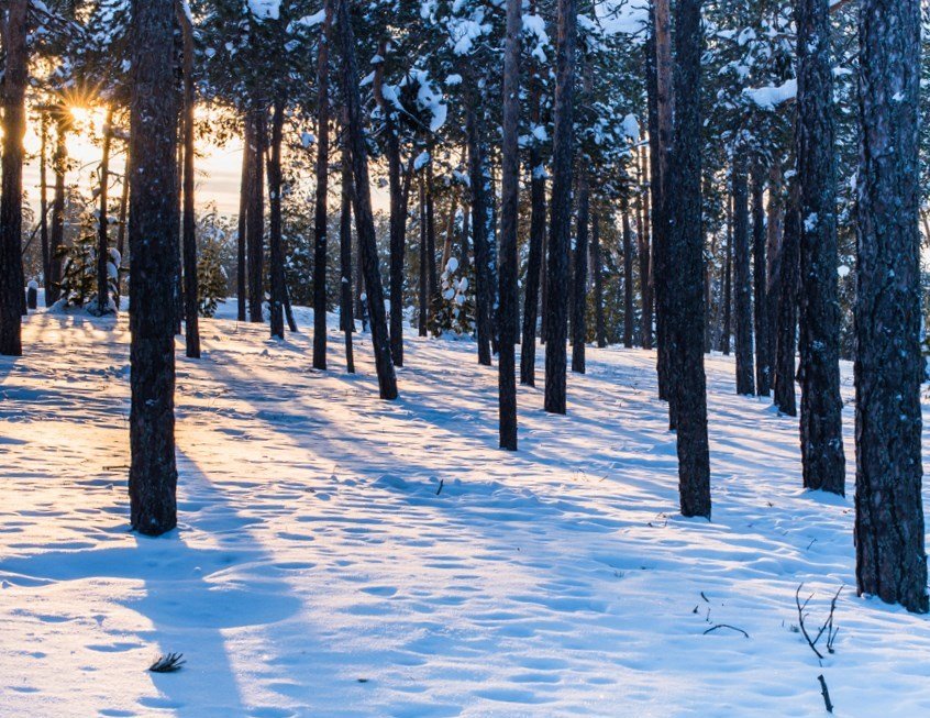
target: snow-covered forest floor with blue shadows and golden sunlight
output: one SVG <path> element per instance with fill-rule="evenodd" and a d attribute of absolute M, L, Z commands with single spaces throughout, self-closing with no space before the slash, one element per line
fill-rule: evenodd
<path fill-rule="evenodd" d="M 821 716 L 820 674 L 838 716 L 930 715 L 930 619 L 855 596 L 852 499 L 801 490 L 797 421 L 729 357 L 707 522 L 677 513 L 652 352 L 589 350 L 566 417 L 521 387 L 510 454 L 473 343 L 411 336 L 384 402 L 367 335 L 351 376 L 331 329 L 317 372 L 298 320 L 178 344 L 179 528 L 148 539 L 125 319 L 29 318 L 0 358 L 0 715 Z M 801 583 L 815 631 L 845 586 L 822 665 Z"/>

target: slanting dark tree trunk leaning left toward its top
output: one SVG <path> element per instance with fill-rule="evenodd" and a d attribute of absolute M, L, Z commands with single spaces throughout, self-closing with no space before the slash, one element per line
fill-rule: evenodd
<path fill-rule="evenodd" d="M 362 98 L 358 91 L 358 66 L 355 59 L 355 37 L 348 13 L 348 2 L 337 3 L 340 46 L 342 48 L 342 89 L 348 119 L 348 147 L 352 155 L 354 185 L 355 231 L 365 272 L 365 294 L 372 318 L 372 346 L 375 368 L 383 399 L 397 398 L 397 377 L 390 355 L 390 338 L 385 316 L 385 296 L 378 269 L 378 245 L 375 238 L 375 219 L 372 214 L 372 190 L 368 184 L 368 155 L 365 147 L 365 126 L 362 121 Z"/>

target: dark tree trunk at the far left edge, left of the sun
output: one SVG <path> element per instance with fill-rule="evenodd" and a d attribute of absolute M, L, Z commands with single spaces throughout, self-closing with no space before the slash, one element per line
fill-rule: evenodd
<path fill-rule="evenodd" d="M 25 310 L 22 225 L 29 1 L 10 0 L 7 8 L 2 85 L 3 180 L 0 198 L 0 354 L 20 356 L 23 353 L 22 313 Z"/>

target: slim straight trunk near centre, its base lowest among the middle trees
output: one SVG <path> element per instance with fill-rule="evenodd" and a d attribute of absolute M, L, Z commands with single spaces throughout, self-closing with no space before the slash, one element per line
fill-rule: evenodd
<path fill-rule="evenodd" d="M 520 33 L 522 2 L 507 0 L 503 49 L 503 141 L 501 144 L 500 272 L 498 292 L 498 415 L 500 448 L 517 451 L 517 366 L 513 346 L 520 336 L 517 294 L 517 224 L 520 210 Z"/>

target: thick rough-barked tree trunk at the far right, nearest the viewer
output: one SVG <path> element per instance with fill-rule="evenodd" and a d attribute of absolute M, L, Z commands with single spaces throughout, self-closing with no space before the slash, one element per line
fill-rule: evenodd
<path fill-rule="evenodd" d="M 859 40 L 856 586 L 860 594 L 926 614 L 918 230 L 920 3 L 861 0 Z"/>

